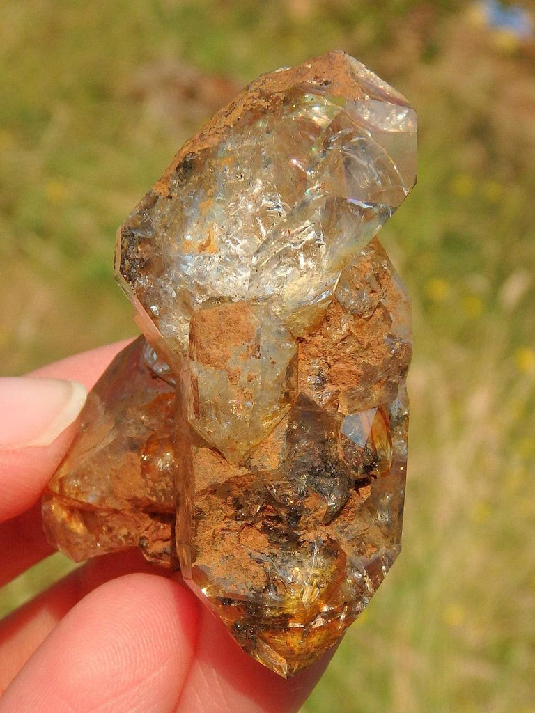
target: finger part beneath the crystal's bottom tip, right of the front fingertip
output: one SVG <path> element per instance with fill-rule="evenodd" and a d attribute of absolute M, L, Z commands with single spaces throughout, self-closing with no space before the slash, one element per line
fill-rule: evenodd
<path fill-rule="evenodd" d="M 246 655 L 223 622 L 202 608 L 195 661 L 176 713 L 293 713 L 325 671 L 334 650 L 283 679 Z"/>

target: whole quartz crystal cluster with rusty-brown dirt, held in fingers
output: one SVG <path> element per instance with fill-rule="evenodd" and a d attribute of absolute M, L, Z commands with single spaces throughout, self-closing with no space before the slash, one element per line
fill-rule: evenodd
<path fill-rule="evenodd" d="M 340 639 L 399 553 L 410 302 L 374 235 L 415 160 L 414 110 L 340 51 L 216 114 L 118 232 L 144 336 L 44 496 L 64 553 L 180 567 L 283 676 Z"/>

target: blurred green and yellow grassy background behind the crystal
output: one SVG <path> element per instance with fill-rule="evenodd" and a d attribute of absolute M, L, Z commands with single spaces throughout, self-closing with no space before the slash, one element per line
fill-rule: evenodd
<path fill-rule="evenodd" d="M 4 0 L 2 34 L 4 374 L 135 334 L 116 227 L 245 81 L 344 48 L 414 103 L 404 553 L 304 711 L 533 713 L 533 43 L 455 0 Z"/>

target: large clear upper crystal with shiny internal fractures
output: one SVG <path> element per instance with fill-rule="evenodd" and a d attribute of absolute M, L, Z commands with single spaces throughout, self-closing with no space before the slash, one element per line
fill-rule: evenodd
<path fill-rule="evenodd" d="M 210 299 L 307 334 L 416 178 L 416 115 L 342 52 L 253 82 L 123 223 L 117 268 L 173 361 Z"/>

